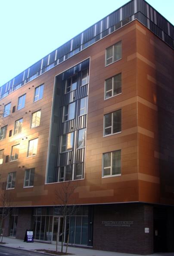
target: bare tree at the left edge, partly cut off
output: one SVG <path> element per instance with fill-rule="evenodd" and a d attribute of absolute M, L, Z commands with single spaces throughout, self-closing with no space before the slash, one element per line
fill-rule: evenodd
<path fill-rule="evenodd" d="M 2 234 L 1 242 L 3 241 L 3 222 L 11 212 L 12 195 L 6 190 L 6 182 L 0 183 L 0 234 Z"/>

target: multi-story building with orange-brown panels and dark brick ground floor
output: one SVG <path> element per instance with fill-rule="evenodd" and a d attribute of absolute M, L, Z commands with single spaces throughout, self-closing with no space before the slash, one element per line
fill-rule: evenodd
<path fill-rule="evenodd" d="M 4 235 L 174 251 L 174 26 L 131 0 L 0 87 Z M 69 184 L 67 186 L 67 184 Z"/>

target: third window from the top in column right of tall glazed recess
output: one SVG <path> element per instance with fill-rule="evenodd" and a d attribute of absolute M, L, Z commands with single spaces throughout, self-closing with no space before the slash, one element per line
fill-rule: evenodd
<path fill-rule="evenodd" d="M 104 136 L 121 131 L 121 109 L 104 116 Z"/>

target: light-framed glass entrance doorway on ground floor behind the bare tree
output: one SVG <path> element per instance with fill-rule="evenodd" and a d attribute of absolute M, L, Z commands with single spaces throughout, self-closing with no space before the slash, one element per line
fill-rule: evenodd
<path fill-rule="evenodd" d="M 52 241 L 54 244 L 56 244 L 57 236 L 58 236 L 58 244 L 61 244 L 62 239 L 64 239 L 63 231 L 64 231 L 63 217 L 62 216 L 53 216 Z"/>

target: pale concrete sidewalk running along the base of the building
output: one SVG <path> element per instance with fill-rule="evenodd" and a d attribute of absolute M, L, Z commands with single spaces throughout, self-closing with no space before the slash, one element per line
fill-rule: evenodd
<path fill-rule="evenodd" d="M 56 245 L 47 244 L 47 243 L 24 243 L 23 240 L 3 237 L 3 242 L 6 244 L 1 244 L 3 247 L 16 248 L 21 250 L 35 251 L 35 250 L 53 250 L 55 251 Z M 60 251 L 60 245 L 58 246 L 58 250 Z M 65 247 L 64 247 L 65 251 Z M 137 254 L 128 254 L 128 253 L 114 253 L 100 250 L 92 250 L 86 248 L 77 248 L 77 247 L 68 247 L 68 253 L 73 253 L 75 256 L 138 256 Z M 152 256 L 174 256 L 174 253 L 154 253 Z"/>

